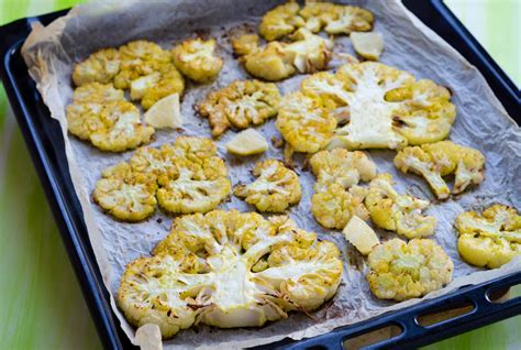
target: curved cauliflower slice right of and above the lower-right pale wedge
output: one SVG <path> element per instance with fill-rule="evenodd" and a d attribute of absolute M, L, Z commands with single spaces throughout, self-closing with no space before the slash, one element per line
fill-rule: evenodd
<path fill-rule="evenodd" d="M 436 219 L 422 214 L 429 207 L 429 200 L 398 194 L 391 181 L 390 174 L 380 174 L 370 182 L 365 205 L 372 220 L 408 239 L 433 234 Z"/>

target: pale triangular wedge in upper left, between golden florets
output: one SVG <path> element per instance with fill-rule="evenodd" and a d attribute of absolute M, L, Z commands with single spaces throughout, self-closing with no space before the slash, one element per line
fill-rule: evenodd
<path fill-rule="evenodd" d="M 182 127 L 179 107 L 179 94 L 173 94 L 158 100 L 143 116 L 143 121 L 155 129 L 177 129 Z"/>

